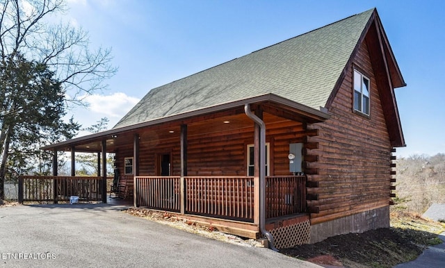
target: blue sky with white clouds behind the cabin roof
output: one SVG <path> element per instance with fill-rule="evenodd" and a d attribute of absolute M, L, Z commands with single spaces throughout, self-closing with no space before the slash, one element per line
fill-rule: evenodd
<path fill-rule="evenodd" d="M 113 49 L 108 90 L 72 111 L 83 126 L 111 128 L 150 89 L 339 19 L 377 8 L 406 87 L 396 89 L 407 147 L 445 153 L 445 1 L 69 0 L 63 16 Z"/>

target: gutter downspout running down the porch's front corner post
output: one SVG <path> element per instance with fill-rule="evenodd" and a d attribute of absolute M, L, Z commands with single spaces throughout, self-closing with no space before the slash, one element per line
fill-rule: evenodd
<path fill-rule="evenodd" d="M 269 233 L 266 226 L 266 124 L 250 110 L 250 104 L 244 105 L 244 112 L 250 119 L 259 125 L 259 231 L 269 240 L 269 248 L 278 251 L 274 246 L 273 235 Z"/>

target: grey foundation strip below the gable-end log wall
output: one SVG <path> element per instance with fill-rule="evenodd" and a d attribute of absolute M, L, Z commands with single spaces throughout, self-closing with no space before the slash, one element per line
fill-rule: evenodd
<path fill-rule="evenodd" d="M 320 242 L 327 237 L 335 235 L 363 233 L 369 230 L 387 227 L 389 227 L 389 206 L 312 225 L 309 244 Z"/>

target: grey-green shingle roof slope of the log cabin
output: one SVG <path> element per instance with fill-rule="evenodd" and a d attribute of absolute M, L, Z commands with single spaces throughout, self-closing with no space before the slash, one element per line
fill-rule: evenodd
<path fill-rule="evenodd" d="M 373 9 L 150 90 L 114 128 L 273 93 L 324 107 Z"/>

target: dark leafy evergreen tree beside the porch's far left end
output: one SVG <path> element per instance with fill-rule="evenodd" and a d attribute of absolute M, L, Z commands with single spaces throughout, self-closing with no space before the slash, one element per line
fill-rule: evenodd
<path fill-rule="evenodd" d="M 49 173 L 51 156 L 40 146 L 71 138 L 79 130 L 72 119 L 63 121 L 64 95 L 47 65 L 17 54 L 0 66 L 0 178 Z"/>

